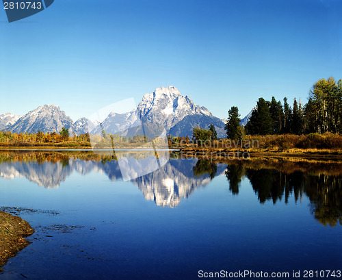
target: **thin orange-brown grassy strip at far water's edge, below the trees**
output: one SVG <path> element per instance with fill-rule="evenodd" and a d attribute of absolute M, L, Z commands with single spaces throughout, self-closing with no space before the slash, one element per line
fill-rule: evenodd
<path fill-rule="evenodd" d="M 150 142 L 148 142 L 150 143 Z M 96 149 L 112 149 L 112 142 L 101 140 Z M 154 142 L 157 149 L 165 149 L 163 142 Z M 114 142 L 115 149 L 146 149 L 153 148 L 146 142 Z M 169 141 L 170 148 L 181 149 L 187 152 L 196 151 L 248 151 L 250 153 L 291 153 L 291 154 L 321 154 L 341 155 L 342 136 L 334 133 L 310 133 L 307 135 L 267 135 L 244 136 L 242 140 L 213 140 L 194 144 L 179 138 L 179 142 Z M 92 149 L 90 142 L 65 141 L 58 143 L 45 142 L 0 142 L 0 150 L 6 149 Z"/>

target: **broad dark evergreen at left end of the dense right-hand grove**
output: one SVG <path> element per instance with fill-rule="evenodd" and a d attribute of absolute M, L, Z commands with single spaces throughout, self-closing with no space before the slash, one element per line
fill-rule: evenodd
<path fill-rule="evenodd" d="M 273 122 L 269 107 L 263 98 L 257 102 L 257 110 L 252 112 L 250 121 L 246 125 L 249 134 L 267 135 L 272 133 Z"/>

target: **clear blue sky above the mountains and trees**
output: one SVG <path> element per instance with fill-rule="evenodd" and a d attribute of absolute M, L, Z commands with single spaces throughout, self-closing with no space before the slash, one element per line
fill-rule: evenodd
<path fill-rule="evenodd" d="M 55 0 L 0 11 L 0 114 L 60 105 L 73 120 L 159 86 L 226 118 L 259 97 L 306 101 L 342 78 L 341 0 Z"/>

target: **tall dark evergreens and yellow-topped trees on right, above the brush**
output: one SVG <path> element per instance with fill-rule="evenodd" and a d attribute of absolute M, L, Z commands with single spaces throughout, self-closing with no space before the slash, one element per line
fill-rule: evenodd
<path fill-rule="evenodd" d="M 311 88 L 308 102 L 302 104 L 294 99 L 289 105 L 287 98 L 271 101 L 259 98 L 250 120 L 243 129 L 237 107 L 228 112 L 226 131 L 228 138 L 239 139 L 244 133 L 250 135 L 267 134 L 308 134 L 342 133 L 342 79 L 319 79 Z"/>

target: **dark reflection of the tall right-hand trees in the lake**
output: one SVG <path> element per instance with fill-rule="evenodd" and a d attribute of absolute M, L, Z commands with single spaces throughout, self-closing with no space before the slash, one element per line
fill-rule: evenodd
<path fill-rule="evenodd" d="M 282 199 L 289 203 L 290 194 L 293 194 L 297 203 L 306 194 L 315 219 L 325 226 L 342 225 L 342 175 L 309 171 L 287 174 L 270 168 L 247 168 L 241 164 L 228 165 L 225 174 L 233 194 L 239 193 L 239 183 L 246 176 L 260 203 L 272 200 L 275 204 Z"/>

